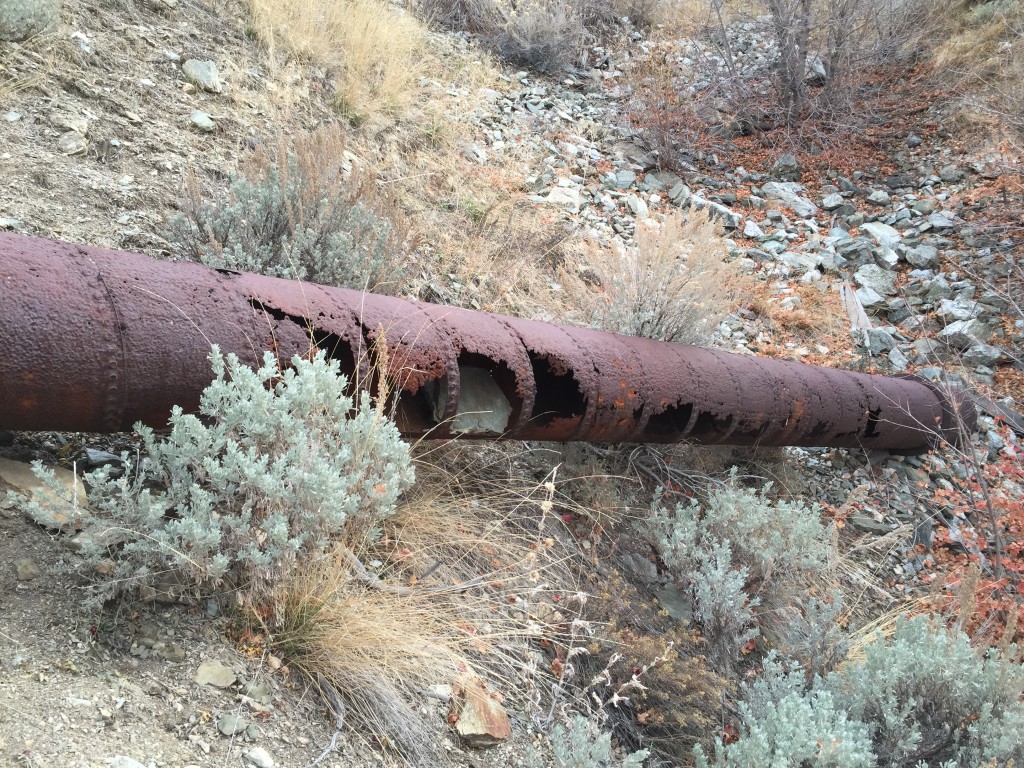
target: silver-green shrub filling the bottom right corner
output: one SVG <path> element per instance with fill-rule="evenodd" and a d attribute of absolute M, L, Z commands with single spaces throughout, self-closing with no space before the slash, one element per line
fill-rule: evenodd
<path fill-rule="evenodd" d="M 862 658 L 811 683 L 774 655 L 744 686 L 739 738 L 698 748 L 696 764 L 974 768 L 1024 760 L 1024 669 L 1017 649 L 981 655 L 963 633 L 903 618 Z"/>

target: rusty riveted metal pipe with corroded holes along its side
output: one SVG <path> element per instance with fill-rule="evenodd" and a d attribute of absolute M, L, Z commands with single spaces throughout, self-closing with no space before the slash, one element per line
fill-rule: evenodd
<path fill-rule="evenodd" d="M 0 234 L 0 427 L 165 426 L 198 406 L 213 343 L 251 365 L 323 349 L 360 382 L 387 376 L 408 436 L 916 451 L 976 422 L 968 398 L 913 377 Z"/>

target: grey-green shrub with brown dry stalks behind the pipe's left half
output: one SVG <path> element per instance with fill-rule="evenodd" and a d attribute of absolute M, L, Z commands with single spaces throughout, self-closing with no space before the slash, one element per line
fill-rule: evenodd
<path fill-rule="evenodd" d="M 257 153 L 213 199 L 191 177 L 170 237 L 216 269 L 378 292 L 395 290 L 403 275 L 398 212 L 353 167 L 337 132 Z"/>

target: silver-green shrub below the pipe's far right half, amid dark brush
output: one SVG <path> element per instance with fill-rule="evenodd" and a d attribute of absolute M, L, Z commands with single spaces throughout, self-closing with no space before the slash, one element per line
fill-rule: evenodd
<path fill-rule="evenodd" d="M 712 665 L 726 676 L 766 617 L 813 607 L 806 586 L 825 579 L 833 556 L 817 507 L 772 500 L 769 490 L 743 488 L 733 475 L 703 504 L 653 507 L 654 545 L 690 597 Z M 778 625 L 776 645 L 784 640 Z"/>

